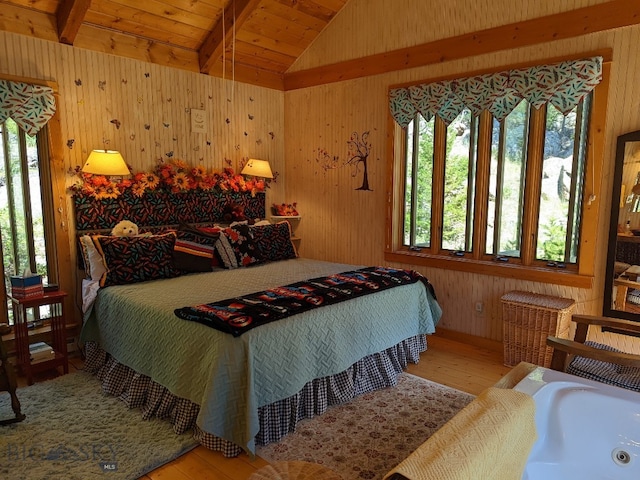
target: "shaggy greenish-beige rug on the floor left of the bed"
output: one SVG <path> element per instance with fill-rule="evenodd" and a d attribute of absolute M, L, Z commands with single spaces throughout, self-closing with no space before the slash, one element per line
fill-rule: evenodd
<path fill-rule="evenodd" d="M 197 446 L 168 420 L 143 420 L 77 372 L 18 389 L 27 418 L 0 427 L 0 478 L 136 479 Z M 0 393 L 0 418 L 13 417 Z"/>

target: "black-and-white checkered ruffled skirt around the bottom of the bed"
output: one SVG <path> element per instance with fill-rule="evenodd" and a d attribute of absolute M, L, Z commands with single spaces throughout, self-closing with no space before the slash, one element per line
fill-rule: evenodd
<path fill-rule="evenodd" d="M 344 372 L 312 380 L 289 398 L 260 407 L 260 431 L 256 435 L 256 444 L 279 441 L 294 432 L 300 420 L 321 415 L 332 405 L 396 385 L 398 376 L 408 363 L 418 363 L 420 353 L 426 349 L 425 335 L 409 338 L 357 361 Z M 197 404 L 173 395 L 149 377 L 118 363 L 95 342 L 87 342 L 85 355 L 85 370 L 100 379 L 102 390 L 119 397 L 129 408 L 140 408 L 144 419 L 168 418 L 178 435 L 192 429 L 196 440 L 210 450 L 222 452 L 225 457 L 235 457 L 242 452 L 238 445 L 196 425 L 200 410 Z"/>

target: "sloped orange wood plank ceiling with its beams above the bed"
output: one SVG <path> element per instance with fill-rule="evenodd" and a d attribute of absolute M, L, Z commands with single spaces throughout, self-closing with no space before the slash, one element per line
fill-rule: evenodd
<path fill-rule="evenodd" d="M 348 0 L 0 0 L 0 30 L 284 89 Z"/>

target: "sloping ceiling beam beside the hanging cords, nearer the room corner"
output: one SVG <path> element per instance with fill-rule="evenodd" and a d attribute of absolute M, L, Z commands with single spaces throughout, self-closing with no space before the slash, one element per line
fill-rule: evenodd
<path fill-rule="evenodd" d="M 261 0 L 231 0 L 224 9 L 224 15 L 213 27 L 198 51 L 200 72 L 208 74 L 220 60 L 224 47 L 233 41 L 233 27 L 238 31 L 247 21 Z"/>

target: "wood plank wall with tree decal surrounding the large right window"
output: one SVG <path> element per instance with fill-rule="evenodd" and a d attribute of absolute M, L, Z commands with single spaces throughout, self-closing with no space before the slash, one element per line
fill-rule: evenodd
<path fill-rule="evenodd" d="M 335 63 L 601 2 L 452 0 L 437 11 L 430 10 L 432 7 L 423 7 L 422 2 L 402 0 L 398 3 L 401 4 L 398 8 L 394 4 L 394 8 L 390 9 L 389 3 L 383 0 L 352 0 L 325 34 L 299 59 L 295 69 Z M 561 7 L 558 6 L 559 3 L 562 3 Z M 352 28 L 353 25 L 358 28 Z M 303 215 L 298 229 L 298 234 L 302 237 L 303 255 L 356 264 L 384 263 L 384 177 L 386 163 L 390 161 L 385 156 L 386 136 L 389 134 L 386 100 L 389 85 L 488 68 L 498 69 L 538 59 L 544 62 L 546 58 L 560 55 L 579 55 L 612 48 L 604 175 L 596 200 L 600 208 L 597 238 L 600 253 L 593 288 L 571 288 L 406 264 L 396 265 L 415 268 L 430 278 L 444 310 L 440 326 L 463 334 L 501 341 L 500 297 L 511 290 L 573 298 L 577 302 L 578 312 L 600 313 L 615 140 L 620 134 L 640 129 L 640 57 L 635 54 L 638 44 L 640 27 L 626 27 L 535 47 L 287 92 L 286 198 L 290 202 L 297 201 L 298 210 Z M 355 171 L 352 167 L 344 166 L 347 141 L 354 131 L 370 132 L 368 174 L 372 191 L 356 190 L 362 183 L 362 170 Z M 338 160 L 334 161 L 334 157 L 338 157 Z M 483 302 L 482 313 L 475 311 L 476 302 Z M 623 340 L 618 345 L 628 350 L 640 350 L 637 341 Z"/>

